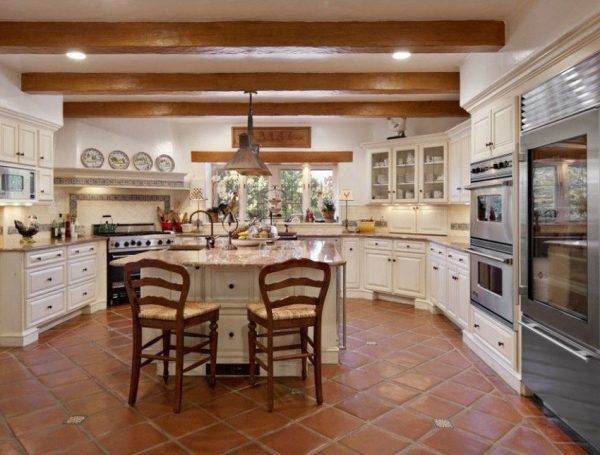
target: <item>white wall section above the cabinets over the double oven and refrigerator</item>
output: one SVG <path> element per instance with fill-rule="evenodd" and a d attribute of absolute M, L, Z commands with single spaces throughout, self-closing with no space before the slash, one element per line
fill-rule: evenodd
<path fill-rule="evenodd" d="M 524 1 L 506 21 L 504 48 L 495 53 L 470 54 L 461 65 L 461 105 L 523 63 L 532 53 L 599 13 L 598 0 Z"/>

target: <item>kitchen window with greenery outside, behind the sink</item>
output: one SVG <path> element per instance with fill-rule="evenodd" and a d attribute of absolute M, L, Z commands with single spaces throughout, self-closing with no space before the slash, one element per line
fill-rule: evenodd
<path fill-rule="evenodd" d="M 212 205 L 228 204 L 234 192 L 239 195 L 238 217 L 243 220 L 269 217 L 268 200 L 274 196 L 273 186 L 280 191 L 283 219 L 304 220 L 311 208 L 317 220 L 322 219 L 324 199 L 336 203 L 337 168 L 323 165 L 271 165 L 270 177 L 244 177 L 222 166 L 212 167 Z"/>

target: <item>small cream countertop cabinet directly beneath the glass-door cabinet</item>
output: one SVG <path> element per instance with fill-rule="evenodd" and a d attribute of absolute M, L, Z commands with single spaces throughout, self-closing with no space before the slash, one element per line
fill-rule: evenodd
<path fill-rule="evenodd" d="M 445 235 L 448 210 L 443 205 L 395 206 L 390 209 L 388 225 L 396 234 Z"/>

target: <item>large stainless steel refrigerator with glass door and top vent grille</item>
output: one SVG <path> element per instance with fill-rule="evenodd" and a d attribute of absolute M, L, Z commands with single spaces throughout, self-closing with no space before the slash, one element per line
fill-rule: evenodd
<path fill-rule="evenodd" d="M 524 384 L 600 450 L 600 54 L 522 97 Z"/>

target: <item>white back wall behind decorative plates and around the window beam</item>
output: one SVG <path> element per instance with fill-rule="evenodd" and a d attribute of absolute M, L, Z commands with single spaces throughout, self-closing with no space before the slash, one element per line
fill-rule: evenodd
<path fill-rule="evenodd" d="M 462 118 L 409 119 L 408 135 L 444 131 L 457 125 Z M 192 164 L 192 150 L 233 150 L 231 127 L 245 125 L 244 117 L 160 118 L 160 119 L 66 119 L 56 134 L 56 166 L 82 167 L 79 156 L 87 147 L 95 147 L 105 156 L 119 149 L 130 156 L 146 151 L 153 157 L 166 153 L 175 160 L 175 170 L 187 172 L 199 184 L 204 182 L 203 165 Z M 360 144 L 383 140 L 390 136 L 385 119 L 347 118 L 260 118 L 255 125 L 310 126 L 311 150 L 354 152 L 354 162 L 338 168 L 339 186 L 350 187 L 355 205 L 369 202 L 366 179 L 366 155 Z M 268 150 L 268 149 L 265 149 Z M 294 150 L 294 149 L 290 149 Z M 297 149 L 296 149 L 297 150 Z M 108 164 L 105 162 L 105 168 Z"/>

